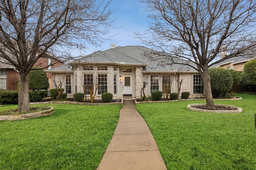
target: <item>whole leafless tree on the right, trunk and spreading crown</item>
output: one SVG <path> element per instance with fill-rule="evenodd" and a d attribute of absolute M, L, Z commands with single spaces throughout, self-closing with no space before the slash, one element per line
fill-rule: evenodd
<path fill-rule="evenodd" d="M 135 33 L 142 43 L 159 51 L 154 60 L 185 64 L 204 82 L 208 109 L 214 109 L 208 68 L 244 54 L 255 41 L 255 0 L 142 0 L 150 12 L 149 29 Z M 252 44 L 252 45 L 250 45 Z M 224 47 L 224 48 L 222 48 Z M 224 58 L 219 59 L 223 49 Z M 179 63 L 175 57 L 187 62 Z"/>

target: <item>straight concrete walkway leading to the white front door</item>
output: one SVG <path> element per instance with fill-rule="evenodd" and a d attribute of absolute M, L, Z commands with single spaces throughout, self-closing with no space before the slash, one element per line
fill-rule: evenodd
<path fill-rule="evenodd" d="M 166 170 L 156 141 L 133 100 L 124 100 L 116 130 L 97 170 Z"/>

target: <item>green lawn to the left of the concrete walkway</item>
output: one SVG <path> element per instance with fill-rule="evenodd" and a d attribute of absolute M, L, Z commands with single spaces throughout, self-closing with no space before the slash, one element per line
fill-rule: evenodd
<path fill-rule="evenodd" d="M 48 106 L 54 107 L 50 116 L 0 121 L 1 170 L 97 168 L 122 106 Z M 15 107 L 4 105 L 0 110 Z"/>

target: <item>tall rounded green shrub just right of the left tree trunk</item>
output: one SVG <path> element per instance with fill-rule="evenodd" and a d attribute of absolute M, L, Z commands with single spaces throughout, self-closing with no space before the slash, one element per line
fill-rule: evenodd
<path fill-rule="evenodd" d="M 47 90 L 48 88 L 49 81 L 46 72 L 40 67 L 32 67 L 29 72 L 29 89 Z"/>

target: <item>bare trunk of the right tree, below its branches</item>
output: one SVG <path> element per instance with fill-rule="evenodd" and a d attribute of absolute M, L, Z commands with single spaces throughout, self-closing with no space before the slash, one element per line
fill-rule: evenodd
<path fill-rule="evenodd" d="M 207 109 L 214 110 L 214 102 L 213 102 L 213 98 L 212 98 L 210 74 L 209 74 L 208 69 L 206 69 L 202 72 L 202 78 L 203 78 L 203 82 L 204 82 L 204 96 L 206 99 Z"/>

